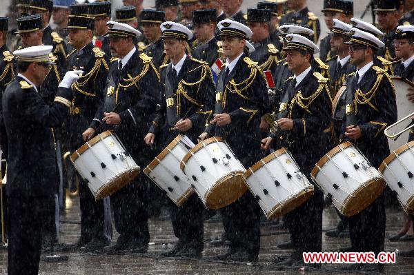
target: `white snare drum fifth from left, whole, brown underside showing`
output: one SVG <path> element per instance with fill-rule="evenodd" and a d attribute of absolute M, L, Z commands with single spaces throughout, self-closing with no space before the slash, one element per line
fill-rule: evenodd
<path fill-rule="evenodd" d="M 364 210 L 386 186 L 380 172 L 350 142 L 341 143 L 322 156 L 311 176 L 345 216 Z"/>

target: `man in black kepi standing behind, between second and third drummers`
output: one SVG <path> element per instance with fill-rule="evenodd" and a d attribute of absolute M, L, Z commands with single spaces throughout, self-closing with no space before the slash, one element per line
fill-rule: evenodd
<path fill-rule="evenodd" d="M 215 36 L 217 26 L 216 10 L 194 10 L 193 11 L 193 32 L 197 38 L 197 47 L 193 49 L 193 57 L 206 61 L 208 65 L 213 66 L 219 58 L 219 45 Z"/>

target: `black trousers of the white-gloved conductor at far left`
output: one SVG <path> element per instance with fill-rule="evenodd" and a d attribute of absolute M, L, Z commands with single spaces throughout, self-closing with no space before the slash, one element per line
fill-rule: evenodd
<path fill-rule="evenodd" d="M 54 201 L 54 196 L 8 198 L 8 275 L 39 274 L 42 223 Z"/>

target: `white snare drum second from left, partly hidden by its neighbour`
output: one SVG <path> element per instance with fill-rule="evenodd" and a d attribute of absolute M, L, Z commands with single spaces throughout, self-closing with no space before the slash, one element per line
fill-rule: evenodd
<path fill-rule="evenodd" d="M 177 206 L 182 205 L 193 193 L 190 180 L 179 169 L 181 159 L 191 147 L 183 142 L 179 134 L 161 153 L 144 169 L 146 174 L 159 188 L 164 190 Z"/>

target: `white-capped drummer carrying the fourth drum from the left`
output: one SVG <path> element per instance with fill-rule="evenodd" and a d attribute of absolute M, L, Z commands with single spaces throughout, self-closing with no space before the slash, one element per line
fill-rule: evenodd
<path fill-rule="evenodd" d="M 279 129 L 263 140 L 266 144 L 262 147 L 267 150 L 272 143 L 275 150 L 287 147 L 304 176 L 310 179 L 315 163 L 331 149 L 328 79 L 311 65 L 313 54 L 319 51 L 311 40 L 287 34 L 284 50 L 294 75 L 286 82 L 278 114 Z M 323 201 L 324 194 L 315 186 L 315 194 L 308 201 L 286 214 L 295 251 L 287 259 L 276 258 L 279 265 L 304 265 L 302 252 L 322 251 Z"/>

